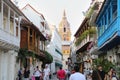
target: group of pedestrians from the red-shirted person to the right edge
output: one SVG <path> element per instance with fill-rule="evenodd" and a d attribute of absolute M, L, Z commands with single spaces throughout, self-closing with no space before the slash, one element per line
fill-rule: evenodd
<path fill-rule="evenodd" d="M 57 71 L 57 78 L 59 80 L 68 80 L 66 79 L 65 71 L 60 67 L 60 70 Z M 103 71 L 101 65 L 97 67 L 95 70 L 91 70 L 89 74 L 84 75 L 80 73 L 79 66 L 74 66 L 74 70 L 71 72 L 69 80 L 119 80 L 116 76 L 116 71 L 114 68 L 110 68 L 110 70 L 106 73 Z"/>

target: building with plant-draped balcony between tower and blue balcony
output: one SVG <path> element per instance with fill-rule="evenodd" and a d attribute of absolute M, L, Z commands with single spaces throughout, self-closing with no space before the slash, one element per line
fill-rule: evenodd
<path fill-rule="evenodd" d="M 93 45 L 96 38 L 96 29 L 88 23 L 88 18 L 85 18 L 75 33 L 76 37 L 76 54 L 77 63 L 80 65 L 81 72 L 83 69 L 90 68 L 89 63 L 89 49 Z"/>

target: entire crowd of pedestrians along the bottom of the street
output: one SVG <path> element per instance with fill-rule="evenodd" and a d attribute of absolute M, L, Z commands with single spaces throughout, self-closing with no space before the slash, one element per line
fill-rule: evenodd
<path fill-rule="evenodd" d="M 119 80 L 116 76 L 116 71 L 114 68 L 110 68 L 110 70 L 106 73 L 103 71 L 102 66 L 99 65 L 96 70 L 93 70 L 87 76 L 80 73 L 80 67 L 74 66 L 74 70 L 71 73 L 67 70 L 63 70 L 62 67 L 57 71 L 57 78 L 59 80 Z M 19 80 L 30 80 L 30 70 L 26 67 L 22 72 L 22 69 L 18 72 Z M 50 69 L 48 65 L 45 65 L 43 72 L 39 70 L 37 66 L 34 70 L 33 76 L 31 80 L 50 80 Z M 24 77 L 24 79 L 22 79 Z"/>

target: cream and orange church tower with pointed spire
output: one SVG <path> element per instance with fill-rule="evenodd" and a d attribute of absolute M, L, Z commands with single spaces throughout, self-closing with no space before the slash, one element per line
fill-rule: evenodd
<path fill-rule="evenodd" d="M 62 38 L 63 68 L 67 69 L 66 64 L 70 54 L 71 30 L 65 11 L 63 12 L 63 17 L 59 24 L 58 31 Z"/>

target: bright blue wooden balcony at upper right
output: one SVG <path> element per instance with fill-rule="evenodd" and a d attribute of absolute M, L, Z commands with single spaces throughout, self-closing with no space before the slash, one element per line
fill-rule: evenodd
<path fill-rule="evenodd" d="M 95 23 L 100 50 L 109 50 L 120 44 L 120 0 L 105 0 Z"/>

